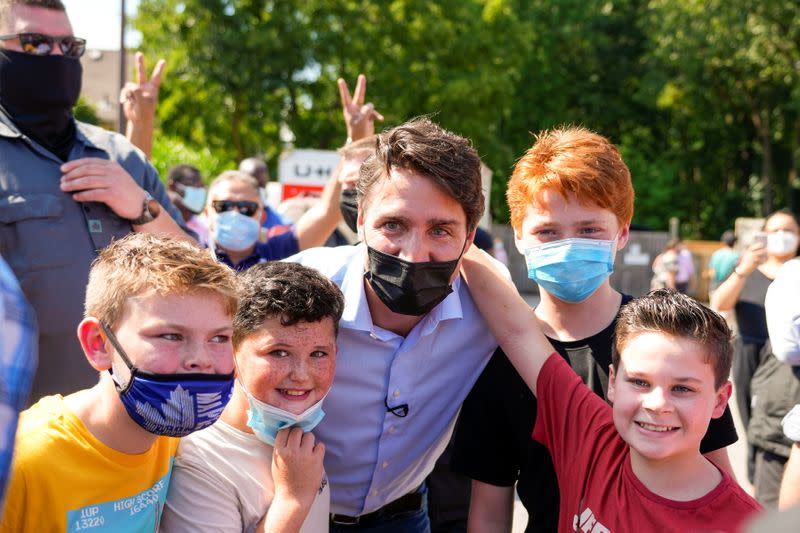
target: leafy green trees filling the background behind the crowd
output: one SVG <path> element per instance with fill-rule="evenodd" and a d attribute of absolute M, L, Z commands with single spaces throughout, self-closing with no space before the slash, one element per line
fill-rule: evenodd
<path fill-rule="evenodd" d="M 620 146 L 635 222 L 717 238 L 798 186 L 799 15 L 788 0 L 142 0 L 136 25 L 168 60 L 162 131 L 209 168 L 341 145 L 335 80 L 363 72 L 386 125 L 431 114 L 473 140 L 495 220 L 531 134 L 581 124 Z"/>

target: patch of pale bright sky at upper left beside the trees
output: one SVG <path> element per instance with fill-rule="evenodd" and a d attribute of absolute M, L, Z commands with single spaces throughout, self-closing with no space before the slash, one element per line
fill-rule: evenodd
<path fill-rule="evenodd" d="M 75 36 L 86 39 L 88 48 L 116 50 L 119 48 L 120 0 L 62 0 L 67 8 Z M 128 15 L 136 13 L 139 0 L 126 0 L 125 11 Z M 129 31 L 125 37 L 125 45 L 135 48 L 141 37 L 135 31 Z"/>

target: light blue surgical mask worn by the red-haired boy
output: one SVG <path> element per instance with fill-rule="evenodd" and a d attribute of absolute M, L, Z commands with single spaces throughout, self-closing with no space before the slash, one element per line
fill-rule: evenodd
<path fill-rule="evenodd" d="M 525 250 L 528 277 L 559 300 L 579 303 L 614 271 L 616 239 L 562 239 Z"/>

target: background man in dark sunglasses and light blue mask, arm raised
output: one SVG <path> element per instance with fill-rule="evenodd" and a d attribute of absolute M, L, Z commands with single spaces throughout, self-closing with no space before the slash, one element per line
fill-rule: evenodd
<path fill-rule="evenodd" d="M 291 230 L 260 242 L 266 213 L 258 182 L 252 176 L 228 170 L 208 188 L 205 215 L 209 224 L 209 248 L 217 259 L 235 270 L 264 261 L 277 261 L 300 250 L 322 246 L 341 220 L 338 168 L 322 191 L 320 201 Z"/>

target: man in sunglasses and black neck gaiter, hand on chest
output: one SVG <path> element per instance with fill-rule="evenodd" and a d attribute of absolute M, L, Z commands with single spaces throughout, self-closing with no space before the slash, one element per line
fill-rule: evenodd
<path fill-rule="evenodd" d="M 33 400 L 97 381 L 75 328 L 98 250 L 131 231 L 189 238 L 141 153 L 73 118 L 85 47 L 59 0 L 0 0 L 0 254 L 37 314 Z"/>

